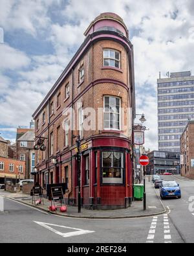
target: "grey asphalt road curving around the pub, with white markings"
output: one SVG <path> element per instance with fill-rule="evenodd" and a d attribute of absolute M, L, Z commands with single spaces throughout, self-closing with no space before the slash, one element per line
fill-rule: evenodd
<path fill-rule="evenodd" d="M 0 213 L 1 243 L 184 243 L 194 242 L 189 196 L 194 181 L 178 181 L 182 199 L 164 200 L 169 214 L 122 220 L 61 218 L 5 199 Z M 0 192 L 0 195 L 3 192 Z M 193 212 L 194 213 L 194 212 Z"/>

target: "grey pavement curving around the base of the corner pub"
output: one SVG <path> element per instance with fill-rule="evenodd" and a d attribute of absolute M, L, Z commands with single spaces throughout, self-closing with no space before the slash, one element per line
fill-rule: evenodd
<path fill-rule="evenodd" d="M 78 213 L 78 207 L 67 205 L 67 213 L 52 212 L 52 214 L 57 214 L 60 216 L 71 217 L 71 218 L 140 218 L 142 216 L 155 216 L 166 213 L 166 208 L 162 204 L 159 196 L 156 195 L 156 191 L 153 187 L 153 183 L 146 180 L 146 194 L 147 194 L 147 210 L 143 209 L 142 201 L 135 201 L 131 207 L 127 209 L 116 209 L 116 210 L 89 210 L 81 208 L 81 213 Z M 17 194 L 10 194 L 5 192 L 5 197 L 23 204 L 27 204 L 43 211 L 49 211 L 50 202 L 44 199 L 44 205 L 32 205 L 32 198 L 27 194 L 22 192 Z M 58 204 L 59 205 L 59 204 Z"/>

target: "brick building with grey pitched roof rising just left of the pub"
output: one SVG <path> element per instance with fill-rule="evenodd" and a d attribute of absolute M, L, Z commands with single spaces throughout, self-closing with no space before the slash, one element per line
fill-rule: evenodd
<path fill-rule="evenodd" d="M 34 139 L 34 129 L 17 128 L 16 156 L 17 159 L 26 162 L 26 179 L 31 178 L 31 172 L 35 167 Z"/>

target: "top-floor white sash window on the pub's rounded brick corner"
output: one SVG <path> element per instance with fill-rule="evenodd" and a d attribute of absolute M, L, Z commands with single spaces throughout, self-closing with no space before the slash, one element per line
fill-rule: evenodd
<path fill-rule="evenodd" d="M 120 52 L 113 49 L 103 50 L 103 66 L 120 69 Z"/>

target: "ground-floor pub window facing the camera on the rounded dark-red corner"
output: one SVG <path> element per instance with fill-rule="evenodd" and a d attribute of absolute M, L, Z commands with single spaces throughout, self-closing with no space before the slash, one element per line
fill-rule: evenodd
<path fill-rule="evenodd" d="M 103 183 L 123 183 L 124 153 L 102 152 Z"/>

